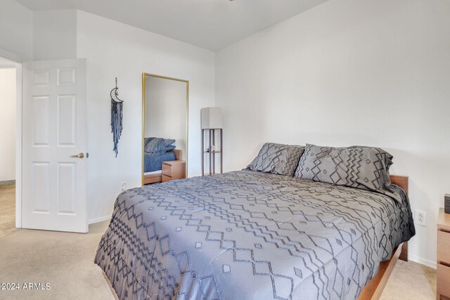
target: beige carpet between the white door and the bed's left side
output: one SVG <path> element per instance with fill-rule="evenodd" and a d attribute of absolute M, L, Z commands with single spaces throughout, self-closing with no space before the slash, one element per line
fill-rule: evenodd
<path fill-rule="evenodd" d="M 0 289 L 0 299 L 114 299 L 94 255 L 108 222 L 89 233 L 16 230 L 0 238 L 0 282 L 49 283 L 49 290 Z"/>

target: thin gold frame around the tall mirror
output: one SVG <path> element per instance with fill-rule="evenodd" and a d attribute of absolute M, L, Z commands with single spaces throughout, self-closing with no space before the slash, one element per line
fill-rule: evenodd
<path fill-rule="evenodd" d="M 143 139 L 145 135 L 145 126 L 146 126 L 146 76 L 158 77 L 162 79 L 176 80 L 186 83 L 186 178 L 188 178 L 188 152 L 189 152 L 189 81 L 174 77 L 161 76 L 157 74 L 151 73 L 142 73 L 142 169 L 141 169 L 141 185 L 143 186 L 143 157 L 144 157 L 144 148 L 143 148 Z"/>

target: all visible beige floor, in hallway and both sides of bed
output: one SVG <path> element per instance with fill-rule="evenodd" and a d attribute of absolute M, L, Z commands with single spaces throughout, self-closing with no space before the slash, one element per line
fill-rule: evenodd
<path fill-rule="evenodd" d="M 0 282 L 21 285 L 48 282 L 51 289 L 0 289 L 0 299 L 114 299 L 101 269 L 94 264 L 98 242 L 108 221 L 89 226 L 87 234 L 11 230 L 11 207 L 3 202 L 6 193 L 1 192 L 0 220 L 8 219 L 8 215 L 10 223 L 0 223 L 6 224 L 5 228 L 0 227 Z M 11 190 L 8 195 L 14 197 Z M 398 261 L 381 299 L 431 300 L 436 299 L 435 291 L 436 270 L 411 261 Z"/>

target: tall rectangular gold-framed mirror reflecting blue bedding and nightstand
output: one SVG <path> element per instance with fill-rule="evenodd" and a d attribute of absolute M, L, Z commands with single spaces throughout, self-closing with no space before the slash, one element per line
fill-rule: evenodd
<path fill-rule="evenodd" d="M 142 185 L 187 177 L 189 81 L 142 74 Z"/>

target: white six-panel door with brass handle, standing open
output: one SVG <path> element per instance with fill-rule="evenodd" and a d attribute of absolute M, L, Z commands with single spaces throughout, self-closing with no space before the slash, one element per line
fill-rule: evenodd
<path fill-rule="evenodd" d="M 23 228 L 86 233 L 86 60 L 23 64 Z"/>

